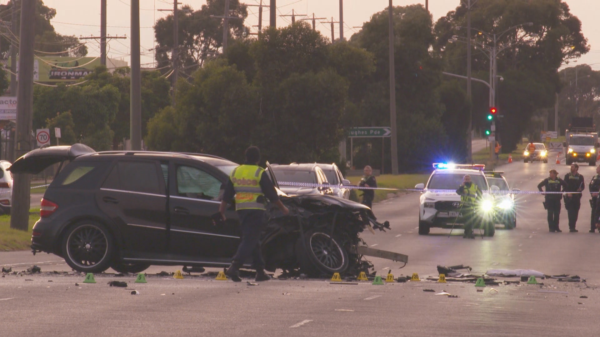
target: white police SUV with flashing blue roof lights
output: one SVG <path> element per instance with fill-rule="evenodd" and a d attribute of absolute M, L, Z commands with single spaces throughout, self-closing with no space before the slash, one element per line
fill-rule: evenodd
<path fill-rule="evenodd" d="M 460 195 L 456 190 L 463 183 L 467 174 L 482 192 L 481 200 L 476 207 L 476 222 L 473 228 L 484 230 L 485 236 L 494 236 L 494 197 L 485 191 L 496 191 L 497 186 L 488 184 L 484 174 L 485 165 L 433 164 L 427 185 L 419 183 L 416 189 L 422 189 L 419 206 L 419 234 L 429 234 L 431 227 L 464 228 L 461 213 Z"/>

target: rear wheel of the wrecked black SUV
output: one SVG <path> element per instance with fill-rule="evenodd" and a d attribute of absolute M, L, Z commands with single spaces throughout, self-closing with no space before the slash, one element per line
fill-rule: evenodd
<path fill-rule="evenodd" d="M 62 252 L 67 264 L 77 272 L 101 273 L 112 263 L 115 240 L 103 224 L 83 220 L 65 232 Z"/>

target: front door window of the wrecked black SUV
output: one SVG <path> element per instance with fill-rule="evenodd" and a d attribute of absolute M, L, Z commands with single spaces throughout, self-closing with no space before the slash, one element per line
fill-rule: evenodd
<path fill-rule="evenodd" d="M 217 200 L 221 181 L 203 170 L 190 166 L 177 167 L 177 194 L 180 197 Z"/>

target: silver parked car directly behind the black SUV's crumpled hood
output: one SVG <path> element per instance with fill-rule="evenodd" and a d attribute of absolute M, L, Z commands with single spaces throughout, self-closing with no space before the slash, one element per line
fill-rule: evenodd
<path fill-rule="evenodd" d="M 272 164 L 270 170 L 272 170 L 272 172 L 275 174 L 275 177 L 277 178 L 277 181 L 279 182 L 329 185 L 329 181 L 327 180 L 327 177 L 325 176 L 323 170 L 319 167 L 319 164 Z M 283 191 L 287 195 L 335 195 L 334 189 L 331 186 L 286 186 L 282 183 L 280 188 L 281 191 Z"/>

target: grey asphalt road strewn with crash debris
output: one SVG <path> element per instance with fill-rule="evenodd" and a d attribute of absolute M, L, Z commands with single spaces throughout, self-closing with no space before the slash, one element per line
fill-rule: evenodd
<path fill-rule="evenodd" d="M 511 187 L 532 191 L 548 170 L 557 169 L 562 176 L 568 172 L 564 161 L 562 165 L 515 162 L 502 169 Z M 581 166 L 586 183 L 594 170 Z M 517 228 L 498 229 L 494 237 L 475 240 L 462 239 L 462 230 L 448 237 L 449 230 L 437 228 L 429 236 L 419 236 L 418 196 L 406 194 L 374 206 L 379 219 L 391 222 L 392 230 L 366 232 L 364 240 L 374 248 L 409 255 L 403 269 L 400 263 L 373 258 L 379 274 L 416 272 L 424 278 L 436 275 L 438 264 L 466 264 L 473 273 L 535 269 L 549 275 L 580 275 L 587 282 L 545 279 L 540 280 L 543 286 L 488 286 L 482 292 L 473 284 L 432 281 L 340 285 L 293 279 L 252 286 L 201 276 L 176 280 L 154 273 L 178 267 L 151 267 L 147 284 L 108 273 L 97 275 L 96 284 L 83 284 L 82 275 L 47 273 L 70 270 L 54 255 L 4 252 L 0 265 L 12 264 L 20 271 L 35 263 L 43 274 L 0 278 L 0 329 L 7 336 L 596 335 L 600 234 L 588 233 L 589 192 L 581 203 L 579 233 L 549 233 L 543 197 L 524 195 L 518 199 Z M 564 209 L 560 228 L 568 228 Z M 127 281 L 128 290 L 109 287 L 107 282 L 113 280 Z M 437 296 L 425 288 L 446 290 L 458 298 Z M 133 296 L 129 289 L 140 294 Z"/>

